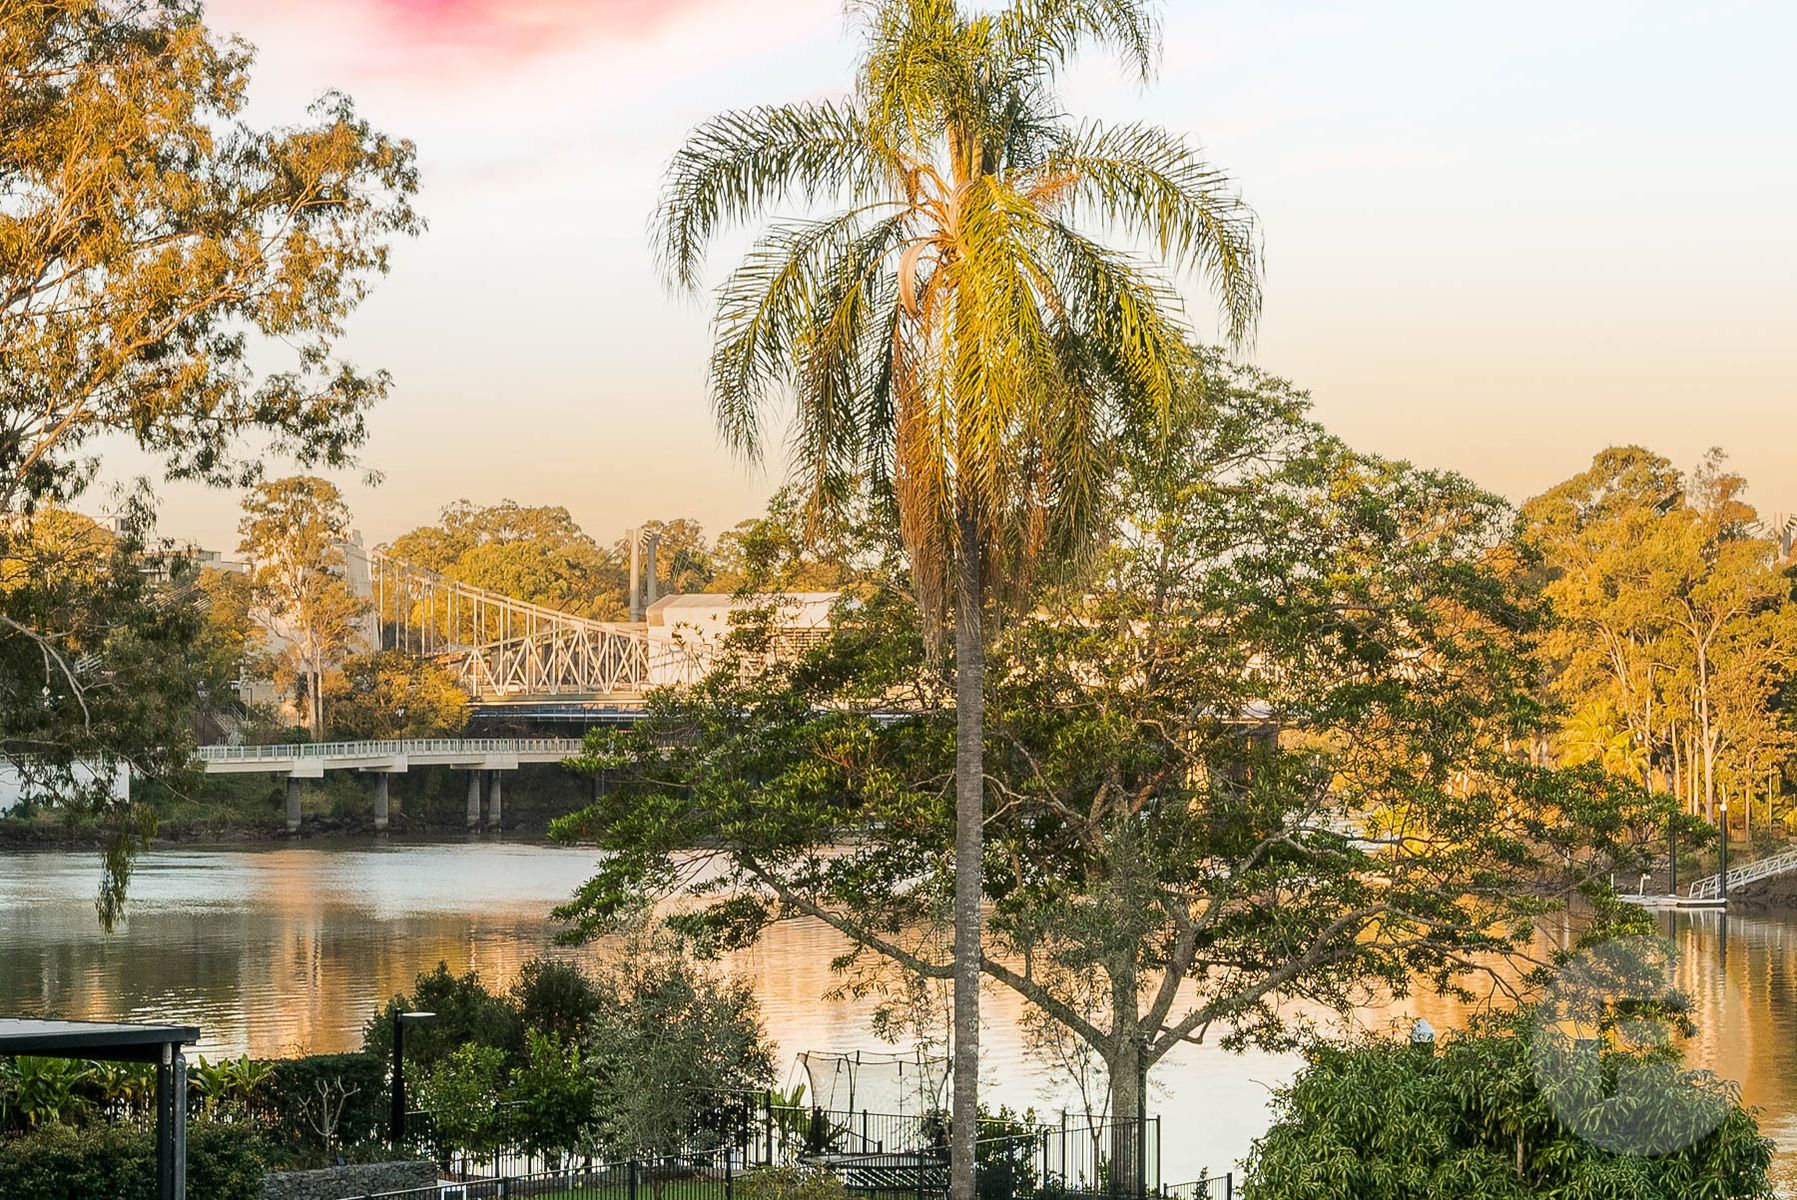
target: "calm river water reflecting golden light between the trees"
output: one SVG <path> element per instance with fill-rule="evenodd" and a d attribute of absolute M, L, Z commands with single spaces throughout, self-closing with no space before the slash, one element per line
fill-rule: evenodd
<path fill-rule="evenodd" d="M 307 848 L 156 850 L 131 880 L 129 920 L 93 918 L 99 871 L 84 851 L 0 857 L 0 1013 L 95 1020 L 180 1020 L 210 1056 L 354 1049 L 385 997 L 449 963 L 507 986 L 553 938 L 548 920 L 591 868 L 582 850 L 469 843 L 345 843 Z M 1741 1083 L 1779 1144 L 1779 1177 L 1797 1182 L 1797 913 L 1729 918 L 1662 914 L 1680 950 L 1678 984 L 1696 1001 L 1695 1065 Z M 800 1051 L 879 1049 L 872 1001 L 825 1001 L 839 979 L 839 940 L 819 925 L 780 925 L 730 966 L 762 1001 L 780 1062 Z M 604 954 L 604 947 L 571 952 Z M 985 1006 L 983 1076 L 994 1101 L 1075 1107 L 1066 1076 L 1031 1060 L 1019 1006 Z M 1452 1028 L 1432 997 L 1366 1013 L 1368 1026 L 1414 1015 Z M 1182 1047 L 1154 1072 L 1164 1123 L 1163 1178 L 1238 1162 L 1265 1128 L 1272 1087 L 1297 1062 Z M 1797 1195 L 1797 1193 L 1793 1193 Z"/>

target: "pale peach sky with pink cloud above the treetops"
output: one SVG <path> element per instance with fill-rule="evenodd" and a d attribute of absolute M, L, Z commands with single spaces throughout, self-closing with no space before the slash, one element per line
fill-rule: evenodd
<path fill-rule="evenodd" d="M 1163 18 L 1148 88 L 1091 56 L 1067 111 L 1159 122 L 1235 176 L 1267 246 L 1245 357 L 1335 433 L 1517 501 L 1603 446 L 1722 446 L 1765 512 L 1797 510 L 1797 5 Z M 395 379 L 361 454 L 379 485 L 340 476 L 370 543 L 458 498 L 564 505 L 604 541 L 760 510 L 782 467 L 717 442 L 708 300 L 661 284 L 647 228 L 695 122 L 846 90 L 839 0 L 214 0 L 208 22 L 259 47 L 253 122 L 338 88 L 419 147 L 429 230 L 343 341 Z M 1215 334 L 1202 289 L 1188 307 Z M 162 492 L 165 534 L 235 543 L 237 496 Z"/>

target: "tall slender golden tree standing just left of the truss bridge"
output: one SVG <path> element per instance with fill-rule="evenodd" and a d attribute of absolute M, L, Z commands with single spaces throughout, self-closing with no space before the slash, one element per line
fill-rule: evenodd
<path fill-rule="evenodd" d="M 349 507 L 329 480 L 259 483 L 243 501 L 239 550 L 250 555 L 259 618 L 289 636 L 284 661 L 313 740 L 325 729 L 325 674 L 361 631 L 365 604 L 345 577 Z"/>

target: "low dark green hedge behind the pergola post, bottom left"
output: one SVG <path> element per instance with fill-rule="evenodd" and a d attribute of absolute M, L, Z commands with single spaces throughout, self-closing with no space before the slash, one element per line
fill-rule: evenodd
<path fill-rule="evenodd" d="M 241 1125 L 190 1125 L 187 1200 L 259 1200 L 264 1153 L 261 1135 Z M 155 1134 L 120 1125 L 50 1125 L 0 1139 L 0 1196 L 155 1200 Z"/>

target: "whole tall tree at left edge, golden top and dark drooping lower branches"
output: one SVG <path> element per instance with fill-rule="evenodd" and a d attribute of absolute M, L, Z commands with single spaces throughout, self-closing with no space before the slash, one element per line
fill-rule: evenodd
<path fill-rule="evenodd" d="M 336 340 L 390 241 L 420 228 L 413 147 L 341 95 L 246 124 L 252 57 L 194 0 L 0 5 L 0 557 L 34 580 L 0 593 L 0 756 L 72 803 L 81 763 L 181 758 L 169 722 L 117 702 L 180 710 L 181 670 L 147 666 L 131 631 L 190 613 L 142 578 L 133 537 L 50 598 L 68 577 L 40 569 L 29 514 L 81 494 L 106 437 L 214 483 L 253 480 L 270 451 L 341 463 L 388 388 Z M 128 841 L 147 830 L 113 816 Z"/>

